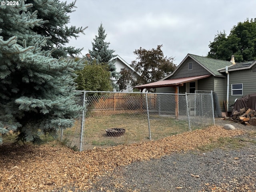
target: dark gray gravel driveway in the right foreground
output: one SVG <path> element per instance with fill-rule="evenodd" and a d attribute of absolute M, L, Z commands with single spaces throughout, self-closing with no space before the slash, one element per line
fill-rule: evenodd
<path fill-rule="evenodd" d="M 216 125 L 239 129 L 254 126 L 217 119 Z M 242 137 L 250 137 L 243 135 Z M 256 140 L 255 136 L 250 137 Z M 89 192 L 255 192 L 256 142 L 237 150 L 177 152 L 159 159 L 120 166 L 94 184 Z"/>

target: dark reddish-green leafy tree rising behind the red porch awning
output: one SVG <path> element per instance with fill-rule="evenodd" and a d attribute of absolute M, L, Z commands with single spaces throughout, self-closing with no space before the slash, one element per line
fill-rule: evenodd
<path fill-rule="evenodd" d="M 164 56 L 161 47 L 162 45 L 158 45 L 156 49 L 151 50 L 140 47 L 134 51 L 137 57 L 132 61 L 131 66 L 140 74 L 137 85 L 156 82 L 176 69 L 174 58 Z"/>

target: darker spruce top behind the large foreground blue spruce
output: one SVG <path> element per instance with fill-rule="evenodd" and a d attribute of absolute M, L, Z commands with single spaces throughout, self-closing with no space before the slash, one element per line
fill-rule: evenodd
<path fill-rule="evenodd" d="M 77 38 L 78 34 L 83 33 L 87 28 L 66 26 L 70 20 L 67 14 L 74 11 L 75 2 L 66 4 L 66 2 L 60 2 L 59 0 L 26 0 L 26 3 L 32 3 L 33 6 L 28 11 L 36 11 L 37 18 L 43 20 L 41 25 L 34 26 L 32 29 L 37 34 L 47 37 L 46 45 L 42 47 L 43 50 L 52 50 L 54 58 L 67 56 L 67 54 L 76 56 L 81 52 L 82 48 L 77 49 L 72 46 L 65 46 L 70 37 Z"/>

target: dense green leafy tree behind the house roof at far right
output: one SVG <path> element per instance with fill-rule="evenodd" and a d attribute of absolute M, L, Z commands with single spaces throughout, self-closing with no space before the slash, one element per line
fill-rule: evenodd
<path fill-rule="evenodd" d="M 236 62 L 256 60 L 256 18 L 246 19 L 234 26 L 230 34 L 220 32 L 210 42 L 207 57 L 230 60 L 235 56 Z"/>

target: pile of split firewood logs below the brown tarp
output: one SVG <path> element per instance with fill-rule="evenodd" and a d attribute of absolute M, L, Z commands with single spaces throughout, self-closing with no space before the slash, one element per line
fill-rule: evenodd
<path fill-rule="evenodd" d="M 230 120 L 245 125 L 256 126 L 256 111 L 250 108 L 242 108 L 240 112 L 235 111 Z"/>

